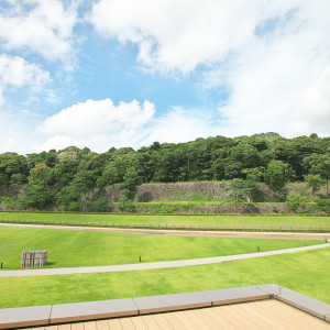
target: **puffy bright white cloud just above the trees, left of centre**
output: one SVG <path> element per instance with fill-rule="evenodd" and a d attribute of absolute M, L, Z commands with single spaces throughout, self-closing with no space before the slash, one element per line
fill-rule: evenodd
<path fill-rule="evenodd" d="M 154 105 L 148 101 L 114 106 L 110 99 L 87 100 L 62 110 L 40 125 L 40 131 L 50 136 L 41 150 L 68 145 L 94 151 L 134 146 L 147 134 L 147 123 L 154 113 Z"/>

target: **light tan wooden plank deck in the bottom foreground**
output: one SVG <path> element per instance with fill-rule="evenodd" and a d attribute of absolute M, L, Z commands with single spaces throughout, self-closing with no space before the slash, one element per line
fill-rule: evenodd
<path fill-rule="evenodd" d="M 278 300 L 262 300 L 202 309 L 136 316 L 31 330 L 157 330 L 157 329 L 328 329 L 330 323 Z"/>

